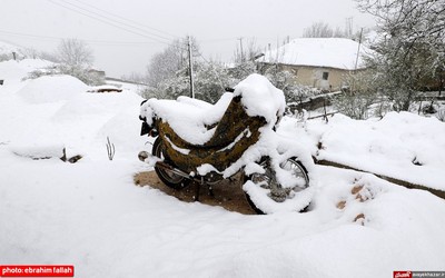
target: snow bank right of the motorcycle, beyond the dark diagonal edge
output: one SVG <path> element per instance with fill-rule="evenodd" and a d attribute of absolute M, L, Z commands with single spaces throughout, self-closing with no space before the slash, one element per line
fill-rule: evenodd
<path fill-rule="evenodd" d="M 317 159 L 445 191 L 445 123 L 435 117 L 389 112 L 382 120 L 353 120 L 340 113 L 281 132 L 307 141 Z M 298 123 L 297 123 L 298 125 Z"/>

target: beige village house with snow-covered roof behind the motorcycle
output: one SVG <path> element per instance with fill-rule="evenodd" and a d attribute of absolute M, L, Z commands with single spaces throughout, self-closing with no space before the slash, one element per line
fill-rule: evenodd
<path fill-rule="evenodd" d="M 364 70 L 364 57 L 370 52 L 350 39 L 299 38 L 269 49 L 256 61 L 261 72 L 276 67 L 291 72 L 299 85 L 337 91 L 346 86 L 347 75 Z"/>

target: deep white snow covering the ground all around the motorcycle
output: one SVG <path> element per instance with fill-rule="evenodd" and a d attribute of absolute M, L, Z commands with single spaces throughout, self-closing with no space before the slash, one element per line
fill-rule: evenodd
<path fill-rule="evenodd" d="M 186 203 L 132 176 L 148 166 L 136 92 L 89 93 L 71 77 L 21 81 L 0 63 L 0 266 L 73 265 L 76 277 L 392 277 L 445 270 L 445 200 L 373 175 L 316 166 L 312 210 L 244 216 Z M 6 78 L 7 77 L 7 78 Z M 80 82 L 80 83 L 79 83 Z M 445 123 L 408 113 L 297 122 L 313 155 L 445 186 Z M 107 137 L 116 146 L 108 159 Z M 318 148 L 320 142 L 322 148 Z M 81 155 L 77 163 L 27 155 Z M 418 161 L 419 165 L 413 163 Z"/>

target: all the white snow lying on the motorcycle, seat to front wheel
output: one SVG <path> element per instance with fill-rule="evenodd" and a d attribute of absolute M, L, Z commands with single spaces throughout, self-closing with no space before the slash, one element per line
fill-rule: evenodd
<path fill-rule="evenodd" d="M 234 97 L 240 97 L 241 105 L 249 117 L 259 116 L 266 120 L 266 125 L 258 130 L 258 140 L 253 141 L 236 161 L 227 161 L 228 167 L 224 170 L 218 171 L 214 165 L 206 162 L 198 166 L 196 171 L 200 176 L 216 171 L 221 173 L 224 178 L 229 178 L 246 168 L 246 175 L 251 175 L 258 171 L 264 172 L 265 169 L 258 163 L 261 158 L 269 158 L 269 163 L 275 170 L 276 178 L 280 185 L 289 189 L 297 186 L 305 188 L 307 186 L 306 180 L 296 180 L 289 171 L 281 169 L 280 165 L 288 158 L 295 158 L 305 166 L 307 165 L 308 170 L 312 170 L 314 162 L 310 159 L 310 153 L 298 142 L 286 141 L 275 132 L 274 126 L 283 117 L 286 101 L 283 91 L 275 88 L 267 78 L 260 75 L 247 77 L 235 87 L 233 95 L 226 93 L 215 106 L 185 97 L 178 101 L 150 99 L 142 105 L 141 116 L 147 119 L 148 125 L 152 125 L 152 118 L 160 118 L 167 121 L 182 139 L 194 143 L 205 143 L 214 136 L 216 130 L 216 128 L 207 130 L 205 125 L 217 122 Z M 221 150 L 231 149 L 238 140 L 243 137 L 249 137 L 251 132 L 253 130 L 249 130 L 249 127 L 246 126 L 245 131 Z M 171 148 L 182 155 L 190 153 L 190 150 L 175 146 L 168 137 L 164 137 L 162 140 L 167 140 Z M 291 193 L 289 196 L 291 201 L 278 203 L 267 196 L 268 190 L 250 181 L 244 186 L 244 189 L 251 196 L 257 208 L 267 214 L 300 211 L 309 205 L 313 197 L 313 188 L 310 188 L 310 190 L 300 190 Z"/>

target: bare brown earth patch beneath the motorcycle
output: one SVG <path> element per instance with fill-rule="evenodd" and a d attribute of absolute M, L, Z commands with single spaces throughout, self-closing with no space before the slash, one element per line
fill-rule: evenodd
<path fill-rule="evenodd" d="M 135 175 L 135 183 L 138 186 L 149 186 L 161 190 L 162 192 L 176 197 L 179 201 L 192 202 L 198 185 L 191 183 L 181 190 L 175 190 L 162 183 L 155 171 L 139 172 Z M 207 187 L 201 187 L 199 192 L 199 202 L 209 206 L 219 206 L 229 211 L 237 211 L 243 215 L 256 215 L 250 208 L 244 196 L 241 182 L 238 178 L 234 181 L 221 181 L 212 186 L 214 196 L 210 196 Z"/>

